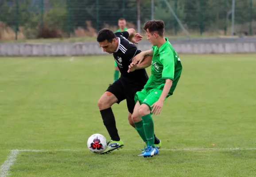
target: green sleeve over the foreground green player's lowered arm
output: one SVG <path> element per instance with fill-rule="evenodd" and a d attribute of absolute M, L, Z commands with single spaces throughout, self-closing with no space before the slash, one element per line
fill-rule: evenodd
<path fill-rule="evenodd" d="M 160 62 L 163 64 L 163 73 L 162 79 L 171 79 L 174 78 L 174 55 L 170 52 L 161 52 L 160 53 Z"/>

